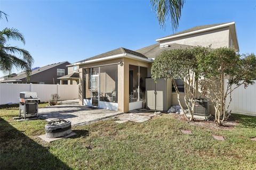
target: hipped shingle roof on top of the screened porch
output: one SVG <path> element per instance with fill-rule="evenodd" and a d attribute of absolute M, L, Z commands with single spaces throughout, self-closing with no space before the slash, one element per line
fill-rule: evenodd
<path fill-rule="evenodd" d="M 81 60 L 79 62 L 84 62 L 84 61 L 89 61 L 89 60 L 94 60 L 94 59 L 98 59 L 98 58 L 113 56 L 113 55 L 117 55 L 117 54 L 124 54 L 124 53 L 137 55 L 137 56 L 142 57 L 142 58 L 147 58 L 143 54 L 140 54 L 138 52 L 135 52 L 135 51 L 127 49 L 127 48 L 120 47 L 120 48 L 111 50 L 111 51 L 106 52 L 106 53 L 102 53 L 102 54 L 99 54 L 99 55 L 96 55 L 96 56 L 93 56 L 93 57 L 90 57 L 90 58 L 86 58 L 85 60 Z M 77 62 L 77 63 L 79 63 L 79 62 Z"/>

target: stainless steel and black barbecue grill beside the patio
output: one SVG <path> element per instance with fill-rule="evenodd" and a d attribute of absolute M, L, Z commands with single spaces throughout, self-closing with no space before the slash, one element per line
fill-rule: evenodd
<path fill-rule="evenodd" d="M 38 103 L 40 99 L 37 98 L 36 92 L 22 91 L 20 92 L 20 108 L 19 117 L 38 117 Z"/>

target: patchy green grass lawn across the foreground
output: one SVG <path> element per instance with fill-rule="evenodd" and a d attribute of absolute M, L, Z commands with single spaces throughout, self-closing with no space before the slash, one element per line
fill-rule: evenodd
<path fill-rule="evenodd" d="M 256 137 L 256 117 L 234 114 L 239 124 L 229 129 L 167 114 L 144 123 L 110 119 L 77 126 L 76 136 L 46 143 L 37 138 L 45 120 L 17 122 L 17 115 L 18 108 L 0 109 L 0 169 L 256 169 L 256 142 L 250 140 Z"/>

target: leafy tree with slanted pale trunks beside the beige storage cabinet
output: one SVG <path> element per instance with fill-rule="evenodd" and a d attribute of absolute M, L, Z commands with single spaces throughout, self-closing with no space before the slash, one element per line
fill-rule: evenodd
<path fill-rule="evenodd" d="M 190 121 L 194 119 L 194 107 L 196 101 L 196 81 L 198 79 L 196 54 L 199 48 L 183 48 L 165 50 L 155 58 L 151 67 L 151 77 L 157 79 L 171 79 L 173 87 L 177 93 L 179 105 L 183 111 L 185 109 L 181 105 L 180 91 L 175 83 L 175 79 L 181 79 L 185 86 L 185 104 L 188 113 L 191 115 Z M 189 120 L 186 114 L 184 116 Z"/>

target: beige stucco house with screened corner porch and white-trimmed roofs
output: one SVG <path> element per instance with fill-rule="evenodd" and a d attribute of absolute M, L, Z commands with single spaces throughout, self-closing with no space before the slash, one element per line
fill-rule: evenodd
<path fill-rule="evenodd" d="M 145 105 L 166 111 L 178 100 L 171 80 L 155 83 L 150 78 L 151 64 L 158 54 L 197 45 L 239 50 L 235 22 L 197 26 L 156 41 L 138 50 L 121 47 L 68 65 L 79 66 L 79 103 L 120 112 Z M 184 90 L 182 81 L 176 81 L 180 91 Z"/>

